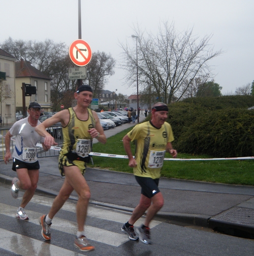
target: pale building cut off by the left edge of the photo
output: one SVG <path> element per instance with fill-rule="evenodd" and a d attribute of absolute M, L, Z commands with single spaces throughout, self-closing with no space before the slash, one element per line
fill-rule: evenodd
<path fill-rule="evenodd" d="M 0 123 L 16 122 L 15 106 L 15 61 L 16 58 L 0 49 Z"/>

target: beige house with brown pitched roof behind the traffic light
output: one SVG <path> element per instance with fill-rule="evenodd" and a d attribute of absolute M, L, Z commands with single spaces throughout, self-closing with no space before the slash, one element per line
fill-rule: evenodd
<path fill-rule="evenodd" d="M 22 113 L 22 83 L 31 84 L 36 87 L 36 94 L 25 97 L 25 106 L 30 102 L 37 101 L 44 111 L 52 111 L 50 101 L 50 80 L 51 78 L 33 67 L 29 62 L 20 60 L 15 63 L 16 77 L 16 111 Z"/>

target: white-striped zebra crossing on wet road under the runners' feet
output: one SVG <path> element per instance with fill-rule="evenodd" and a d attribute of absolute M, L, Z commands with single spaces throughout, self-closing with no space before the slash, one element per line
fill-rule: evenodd
<path fill-rule="evenodd" d="M 53 198 L 42 195 L 34 195 L 30 203 L 48 207 L 52 205 Z M 17 210 L 17 207 L 0 203 L 0 209 L 1 214 L 5 215 L 6 217 L 15 218 L 15 212 Z M 66 204 L 63 205 L 61 210 L 69 213 L 76 213 L 76 203 L 72 201 L 67 201 Z M 34 226 L 38 225 L 38 229 L 33 231 L 38 233 L 38 231 L 40 231 L 38 219 L 42 215 L 42 213 L 37 211 L 26 210 L 26 214 L 29 216 L 28 222 L 30 224 L 34 224 Z M 89 224 L 85 225 L 85 233 L 91 243 L 93 243 L 92 241 L 95 241 L 105 244 L 107 246 L 112 246 L 113 248 L 117 248 L 120 245 L 123 245 L 124 243 L 130 241 L 128 236 L 124 235 L 120 230 L 121 225 L 130 218 L 130 213 L 90 205 L 88 207 L 87 218 L 100 219 L 101 221 L 105 220 L 107 222 L 110 222 L 110 225 L 115 225 L 117 227 L 115 229 L 117 232 L 112 232 L 107 229 L 104 230 L 103 225 L 101 225 L 100 227 Z M 24 223 L 27 221 L 17 220 L 16 225 L 19 225 L 20 222 Z M 138 226 L 141 225 L 142 223 L 143 219 L 141 218 L 140 220 L 137 221 L 135 225 Z M 160 221 L 152 221 L 150 226 L 151 229 L 160 223 Z M 53 236 L 53 234 L 56 231 L 68 233 L 73 235 L 74 237 L 74 235 L 77 232 L 77 223 L 76 221 L 70 221 L 67 219 L 54 217 L 51 226 L 51 236 Z M 22 232 L 20 234 L 17 234 L 15 232 L 2 229 L 1 227 L 0 236 L 1 238 L 3 238 L 0 240 L 0 248 L 11 251 L 13 253 L 20 254 L 22 256 L 84 255 L 82 254 L 82 252 L 79 252 L 79 254 L 77 254 L 78 250 L 75 249 L 74 246 L 69 249 L 61 248 L 60 246 L 57 246 L 55 244 L 45 242 L 41 236 L 39 237 L 39 239 L 35 239 L 34 237 L 28 237 L 25 234 L 22 234 Z M 13 246 L 13 242 L 10 242 L 13 240 L 16 241 L 17 244 L 25 244 L 26 246 Z M 74 251 L 72 251 L 71 249 L 73 249 Z M 45 254 L 45 251 L 48 251 L 48 254 Z"/>

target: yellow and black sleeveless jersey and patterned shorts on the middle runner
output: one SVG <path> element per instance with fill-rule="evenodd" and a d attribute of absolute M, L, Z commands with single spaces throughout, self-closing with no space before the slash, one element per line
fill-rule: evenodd
<path fill-rule="evenodd" d="M 73 108 L 68 108 L 70 112 L 70 121 L 66 127 L 62 127 L 63 144 L 59 152 L 59 169 L 62 176 L 63 166 L 77 165 L 83 174 L 85 172 L 84 158 L 76 154 L 77 148 L 79 147 L 78 141 L 80 139 L 90 140 L 91 146 L 92 137 L 88 130 L 96 127 L 96 120 L 92 115 L 92 111 L 88 110 L 88 119 L 85 121 L 79 120 L 74 112 Z"/>

